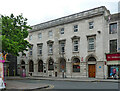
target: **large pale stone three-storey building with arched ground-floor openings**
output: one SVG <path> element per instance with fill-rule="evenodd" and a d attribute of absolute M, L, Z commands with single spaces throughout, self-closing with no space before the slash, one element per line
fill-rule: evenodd
<path fill-rule="evenodd" d="M 17 58 L 18 74 L 107 78 L 108 41 L 118 39 L 118 32 L 109 36 L 109 16 L 101 6 L 32 26 L 32 47 Z"/>

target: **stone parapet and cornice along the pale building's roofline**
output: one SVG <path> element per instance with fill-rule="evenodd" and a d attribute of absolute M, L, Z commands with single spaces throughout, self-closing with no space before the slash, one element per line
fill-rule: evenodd
<path fill-rule="evenodd" d="M 38 30 L 42 30 L 42 29 L 46 29 L 46 28 L 50 28 L 58 25 L 63 25 L 70 22 L 75 22 L 81 19 L 103 15 L 105 10 L 109 13 L 109 11 L 106 9 L 105 6 L 101 6 L 101 7 L 89 9 L 83 12 L 75 13 L 69 16 L 54 19 L 48 22 L 40 23 L 40 24 L 31 26 L 32 30 L 29 30 L 29 32 L 34 32 L 34 31 L 38 31 Z"/>

